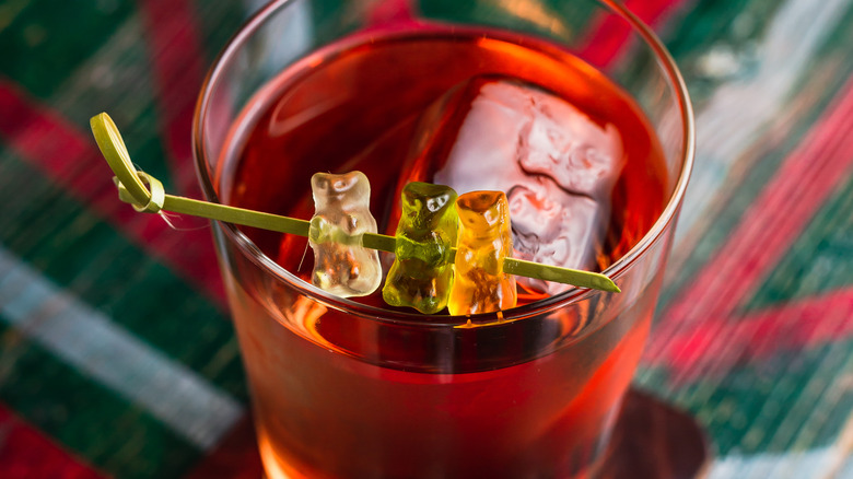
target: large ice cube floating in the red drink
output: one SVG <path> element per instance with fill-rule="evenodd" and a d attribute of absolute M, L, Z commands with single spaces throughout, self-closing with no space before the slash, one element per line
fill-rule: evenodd
<path fill-rule="evenodd" d="M 616 127 L 535 85 L 478 78 L 426 110 L 409 179 L 506 192 L 514 256 L 594 269 L 623 165 Z M 518 278 L 556 294 L 569 287 Z"/>

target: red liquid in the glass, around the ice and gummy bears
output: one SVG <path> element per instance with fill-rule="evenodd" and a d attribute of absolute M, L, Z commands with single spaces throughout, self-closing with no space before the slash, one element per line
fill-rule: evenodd
<path fill-rule="evenodd" d="M 657 141 L 604 75 L 547 45 L 511 39 L 524 46 L 459 33 L 374 36 L 301 62 L 268 85 L 235 127 L 230 151 L 238 161 L 220 172 L 220 183 L 231 182 L 222 197 L 307 219 L 313 173 L 361 170 L 382 224 L 421 113 L 461 81 L 507 75 L 617 127 L 626 166 L 598 255 L 606 267 L 663 210 L 668 179 Z M 299 268 L 304 238 L 246 232 L 307 278 L 311 254 Z M 651 255 L 652 273 L 626 278 L 619 296 L 593 295 L 506 324 L 428 328 L 327 309 L 226 252 L 268 475 L 585 477 L 601 459 L 648 330 L 663 265 L 661 252 Z M 626 288 L 632 282 L 640 293 Z M 381 305 L 376 296 L 365 301 Z"/>

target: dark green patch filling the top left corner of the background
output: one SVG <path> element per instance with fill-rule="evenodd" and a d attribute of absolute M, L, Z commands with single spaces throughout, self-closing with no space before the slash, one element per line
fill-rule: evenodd
<path fill-rule="evenodd" d="M 0 4 L 0 71 L 48 97 L 132 11 L 128 0 L 7 0 Z"/>

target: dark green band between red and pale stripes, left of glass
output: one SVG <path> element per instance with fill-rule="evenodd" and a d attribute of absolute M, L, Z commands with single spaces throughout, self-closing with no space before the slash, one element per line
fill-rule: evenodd
<path fill-rule="evenodd" d="M 21 191 L 32 200 L 13 201 Z M 8 205 L 0 217 L 0 242 L 8 249 L 166 355 L 246 400 L 232 324 L 199 292 L 9 154 L 0 154 L 0 203 Z M 157 301 L 152 304 L 149 297 Z M 164 304 L 171 306 L 167 315 Z"/>

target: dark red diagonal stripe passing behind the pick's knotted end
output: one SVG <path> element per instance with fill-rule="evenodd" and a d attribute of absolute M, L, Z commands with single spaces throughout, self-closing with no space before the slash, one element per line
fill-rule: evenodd
<path fill-rule="evenodd" d="M 224 304 L 208 229 L 174 231 L 118 201 L 112 172 L 94 139 L 0 78 L 0 138 L 151 256 Z"/>

